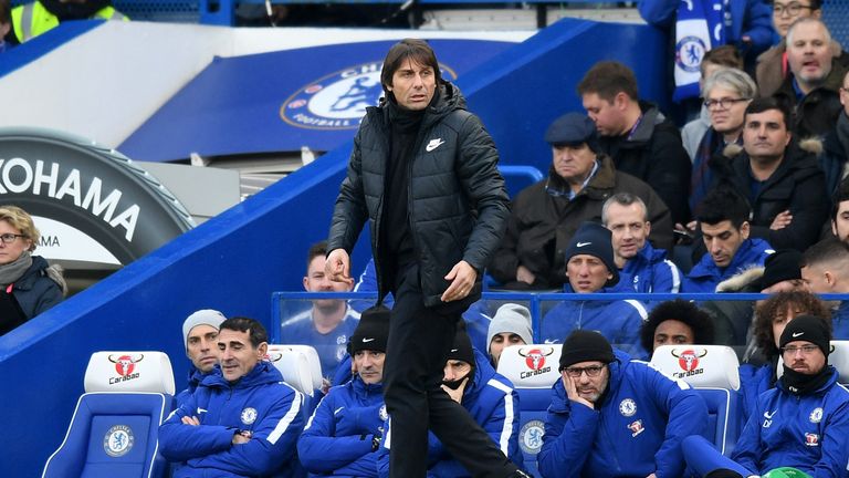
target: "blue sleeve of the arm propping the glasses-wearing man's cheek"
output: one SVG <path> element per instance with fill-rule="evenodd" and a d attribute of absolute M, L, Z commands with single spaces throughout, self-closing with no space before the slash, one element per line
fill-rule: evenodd
<path fill-rule="evenodd" d="M 599 418 L 598 412 L 575 402 L 569 403 L 565 413 L 548 408 L 543 447 L 537 455 L 543 477 L 580 477 L 580 470 L 593 449 L 589 437 L 596 436 Z"/>

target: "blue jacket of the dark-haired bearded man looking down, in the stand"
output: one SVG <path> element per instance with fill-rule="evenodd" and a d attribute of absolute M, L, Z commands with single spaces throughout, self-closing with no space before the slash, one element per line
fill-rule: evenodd
<path fill-rule="evenodd" d="M 716 267 L 710 252 L 705 252 L 702 259 L 690 269 L 681 291 L 714 293 L 716 284 L 730 279 L 743 269 L 763 266 L 766 258 L 773 252 L 775 251 L 769 242 L 758 238 L 746 239 L 740 245 L 731 263 L 723 269 Z"/>

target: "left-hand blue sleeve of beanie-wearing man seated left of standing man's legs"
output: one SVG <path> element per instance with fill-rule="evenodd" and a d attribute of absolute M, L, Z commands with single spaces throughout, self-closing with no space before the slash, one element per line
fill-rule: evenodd
<path fill-rule="evenodd" d="M 297 441 L 297 456 L 311 472 L 334 471 L 371 454 L 373 435 L 364 439 L 360 439 L 360 435 L 336 436 L 336 417 L 333 412 L 340 404 L 333 397 L 332 391 L 322 399 Z"/>

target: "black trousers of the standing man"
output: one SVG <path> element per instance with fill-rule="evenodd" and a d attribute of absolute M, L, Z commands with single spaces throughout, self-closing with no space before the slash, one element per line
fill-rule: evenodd
<path fill-rule="evenodd" d="M 516 466 L 440 387 L 461 313 L 424 306 L 417 264 L 397 271 L 394 292 L 384 368 L 384 397 L 391 416 L 389 476 L 427 475 L 428 429 L 471 476 L 511 476 Z"/>

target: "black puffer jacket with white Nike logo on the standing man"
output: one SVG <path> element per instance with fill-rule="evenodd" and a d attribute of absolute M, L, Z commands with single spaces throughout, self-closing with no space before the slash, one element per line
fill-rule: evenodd
<path fill-rule="evenodd" d="M 464 260 L 478 270 L 478 283 L 464 302 L 480 299 L 481 276 L 501 242 L 510 199 L 497 169 L 499 153 L 480 118 L 450 83 L 428 106 L 409 162 L 409 217 L 420 267 L 424 305 L 441 304 L 450 284 L 444 276 Z M 380 262 L 384 180 L 389 156 L 386 107 L 369 107 L 354 139 L 348 173 L 333 212 L 327 250 L 350 252 L 367 219 L 378 293 L 388 292 Z"/>

